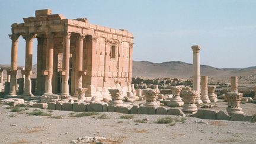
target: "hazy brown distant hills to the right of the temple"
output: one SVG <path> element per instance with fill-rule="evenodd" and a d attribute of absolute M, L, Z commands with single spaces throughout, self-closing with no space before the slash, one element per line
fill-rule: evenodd
<path fill-rule="evenodd" d="M 133 61 L 133 76 L 146 78 L 190 78 L 193 75 L 193 65 L 190 63 L 172 61 L 152 63 L 148 61 Z M 213 78 L 227 78 L 229 76 L 256 75 L 256 66 L 244 69 L 219 69 L 212 66 L 200 65 L 200 75 Z"/>

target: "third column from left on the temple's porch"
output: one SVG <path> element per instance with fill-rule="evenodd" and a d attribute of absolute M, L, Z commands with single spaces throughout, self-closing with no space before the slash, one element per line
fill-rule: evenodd
<path fill-rule="evenodd" d="M 46 75 L 44 93 L 52 94 L 52 76 L 53 76 L 53 33 L 47 34 L 47 43 L 46 43 Z"/>

